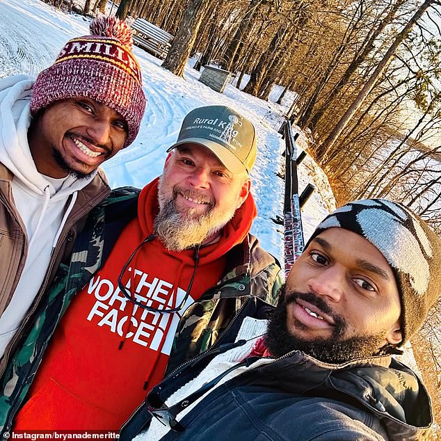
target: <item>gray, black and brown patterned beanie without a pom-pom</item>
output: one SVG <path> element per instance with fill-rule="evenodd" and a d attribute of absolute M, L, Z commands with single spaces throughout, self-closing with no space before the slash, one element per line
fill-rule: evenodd
<path fill-rule="evenodd" d="M 401 298 L 404 344 L 422 326 L 441 292 L 440 237 L 408 208 L 384 199 L 340 207 L 319 224 L 310 241 L 331 227 L 360 234 L 390 264 Z"/>

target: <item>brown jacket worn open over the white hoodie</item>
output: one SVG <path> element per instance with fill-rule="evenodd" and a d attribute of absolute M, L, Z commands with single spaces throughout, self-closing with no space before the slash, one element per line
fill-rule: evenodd
<path fill-rule="evenodd" d="M 17 213 L 13 200 L 12 191 L 13 174 L 0 163 L 0 316 L 8 307 L 17 283 L 24 268 L 28 250 L 26 229 Z M 102 170 L 98 170 L 95 178 L 78 191 L 77 200 L 70 212 L 63 231 L 52 253 L 45 279 L 42 282 L 33 305 L 26 313 L 22 325 L 6 348 L 3 359 L 0 362 L 0 376 L 8 360 L 8 355 L 14 342 L 35 311 L 42 295 L 52 280 L 61 262 L 69 259 L 74 244 L 74 239 L 83 229 L 87 215 L 93 207 L 99 204 L 110 194 L 106 176 Z"/>

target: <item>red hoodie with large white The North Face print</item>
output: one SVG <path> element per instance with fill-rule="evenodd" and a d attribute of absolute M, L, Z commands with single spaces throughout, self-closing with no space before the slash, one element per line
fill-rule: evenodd
<path fill-rule="evenodd" d="M 125 227 L 104 266 L 72 300 L 35 376 L 29 401 L 17 414 L 15 430 L 117 431 L 147 390 L 163 378 L 184 310 L 218 282 L 225 253 L 245 239 L 256 216 L 249 195 L 225 225 L 220 241 L 200 248 L 186 306 L 160 314 L 138 307 L 118 288 L 122 266 L 152 234 L 157 210 L 155 179 L 141 191 L 138 218 Z M 129 291 L 135 290 L 142 303 L 176 307 L 193 274 L 193 255 L 193 250 L 168 251 L 154 239 L 141 247 L 122 282 L 130 283 Z"/>

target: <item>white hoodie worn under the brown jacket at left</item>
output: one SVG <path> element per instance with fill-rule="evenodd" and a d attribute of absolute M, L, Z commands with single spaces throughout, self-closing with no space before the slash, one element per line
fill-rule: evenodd
<path fill-rule="evenodd" d="M 0 358 L 38 294 L 77 191 L 96 174 L 79 180 L 70 175 L 54 179 L 38 173 L 27 138 L 32 86 L 33 79 L 25 75 L 0 79 L 0 163 L 14 175 L 13 198 L 28 240 L 22 276 L 0 318 Z"/>

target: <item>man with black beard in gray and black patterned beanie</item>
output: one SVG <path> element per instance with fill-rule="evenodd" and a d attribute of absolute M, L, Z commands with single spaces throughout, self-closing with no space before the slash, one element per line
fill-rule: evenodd
<path fill-rule="evenodd" d="M 278 306 L 250 298 L 216 347 L 153 388 L 120 438 L 428 439 L 430 398 L 393 355 L 426 319 L 440 274 L 441 239 L 408 208 L 344 205 L 312 234 Z"/>

